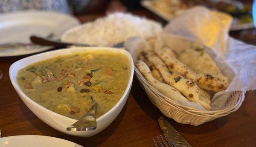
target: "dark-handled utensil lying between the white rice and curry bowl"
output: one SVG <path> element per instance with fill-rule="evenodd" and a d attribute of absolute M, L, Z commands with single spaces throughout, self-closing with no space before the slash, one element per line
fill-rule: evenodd
<path fill-rule="evenodd" d="M 55 47 L 67 47 L 67 46 L 85 46 L 89 47 L 92 45 L 88 44 L 81 44 L 81 43 L 67 43 L 67 42 L 62 42 L 62 41 L 57 41 L 57 40 L 51 40 L 49 38 L 43 38 L 43 37 L 38 37 L 38 36 L 31 36 L 30 40 L 32 43 L 41 45 L 41 46 L 55 46 Z M 122 48 L 124 46 L 124 43 L 117 43 L 113 47 L 115 48 Z"/>

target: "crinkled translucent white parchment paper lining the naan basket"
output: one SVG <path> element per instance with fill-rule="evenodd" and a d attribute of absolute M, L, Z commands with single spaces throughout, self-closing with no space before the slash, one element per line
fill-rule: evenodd
<path fill-rule="evenodd" d="M 256 46 L 228 35 L 232 21 L 228 14 L 198 6 L 180 14 L 160 34 L 166 45 L 173 45 L 174 36 L 178 36 L 207 46 L 207 52 L 230 83 L 226 90 L 215 93 L 212 98 L 212 110 L 222 109 L 233 91 L 256 89 Z M 180 44 L 183 45 L 179 46 L 180 49 L 186 47 L 186 41 Z M 147 47 L 140 37 L 133 37 L 125 42 L 125 48 L 131 52 L 134 61 L 137 61 L 138 53 Z"/>

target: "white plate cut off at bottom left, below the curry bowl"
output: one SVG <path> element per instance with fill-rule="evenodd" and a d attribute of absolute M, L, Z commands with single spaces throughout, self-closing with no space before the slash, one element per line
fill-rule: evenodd
<path fill-rule="evenodd" d="M 20 135 L 0 138 L 0 147 L 83 147 L 60 138 L 40 135 Z"/>

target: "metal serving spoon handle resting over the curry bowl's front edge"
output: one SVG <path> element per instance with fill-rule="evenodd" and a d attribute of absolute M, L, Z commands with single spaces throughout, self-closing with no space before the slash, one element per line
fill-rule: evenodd
<path fill-rule="evenodd" d="M 98 104 L 95 103 L 90 110 L 81 117 L 76 123 L 67 127 L 67 131 L 90 131 L 97 127 L 96 111 Z"/>

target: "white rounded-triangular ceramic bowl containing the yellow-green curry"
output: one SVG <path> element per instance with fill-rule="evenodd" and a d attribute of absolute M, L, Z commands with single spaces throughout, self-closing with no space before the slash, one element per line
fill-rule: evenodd
<path fill-rule="evenodd" d="M 37 104 L 35 101 L 32 101 L 29 97 L 27 97 L 20 89 L 20 87 L 17 84 L 17 72 L 38 61 L 46 60 L 48 58 L 53 58 L 58 55 L 70 55 L 70 54 L 75 54 L 75 53 L 82 53 L 84 51 L 90 51 L 90 50 L 106 50 L 106 51 L 111 51 L 111 52 L 118 52 L 122 53 L 126 57 L 128 57 L 128 60 L 130 62 L 131 66 L 131 73 L 130 73 L 130 79 L 127 85 L 127 88 L 120 98 L 120 100 L 117 102 L 117 104 L 108 112 L 106 112 L 104 115 L 101 117 L 97 118 L 97 128 L 96 130 L 93 131 L 78 131 L 78 132 L 73 132 L 73 131 L 67 131 L 66 127 L 70 126 L 71 124 L 75 123 L 77 120 L 68 118 L 66 116 L 60 115 L 58 113 L 52 112 L 48 110 L 47 108 L 44 108 L 43 106 Z M 46 124 L 49 126 L 53 127 L 54 129 L 61 131 L 66 134 L 70 135 L 75 135 L 75 136 L 92 136 L 95 135 L 102 130 L 104 130 L 106 127 L 108 127 L 109 124 L 117 117 L 117 115 L 120 113 L 122 108 L 125 105 L 125 102 L 127 101 L 129 92 L 131 90 L 131 84 L 132 84 L 132 79 L 134 75 L 134 65 L 133 65 L 133 60 L 131 58 L 131 55 L 129 52 L 125 51 L 124 49 L 115 49 L 115 48 L 103 48 L 103 47 L 84 47 L 84 48 L 71 48 L 71 49 L 61 49 L 61 50 L 56 50 L 52 52 L 44 52 L 38 55 L 33 55 L 24 59 L 21 59 L 15 63 L 12 64 L 12 66 L 9 69 L 9 75 L 10 79 L 12 82 L 12 85 L 14 86 L 16 92 L 22 99 L 22 101 L 26 104 L 27 107 L 42 121 L 44 121 Z"/>

